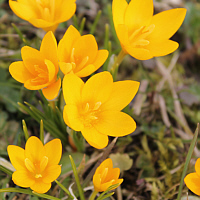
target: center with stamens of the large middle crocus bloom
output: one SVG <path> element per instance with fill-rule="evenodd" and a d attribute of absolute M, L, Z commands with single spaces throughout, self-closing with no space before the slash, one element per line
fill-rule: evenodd
<path fill-rule="evenodd" d="M 86 103 L 83 106 L 81 119 L 84 126 L 91 127 L 92 124 L 96 123 L 98 120 L 98 113 L 100 111 L 101 102 L 96 102 L 95 104 Z"/>

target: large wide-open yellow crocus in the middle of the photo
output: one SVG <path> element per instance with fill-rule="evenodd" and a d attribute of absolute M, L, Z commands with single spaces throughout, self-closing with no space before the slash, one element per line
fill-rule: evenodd
<path fill-rule="evenodd" d="M 91 146 L 104 148 L 108 135 L 120 137 L 135 130 L 135 121 L 121 110 L 138 88 L 136 81 L 113 83 L 109 72 L 95 74 L 85 84 L 76 75 L 67 74 L 63 80 L 64 121 L 75 131 L 81 131 Z"/>

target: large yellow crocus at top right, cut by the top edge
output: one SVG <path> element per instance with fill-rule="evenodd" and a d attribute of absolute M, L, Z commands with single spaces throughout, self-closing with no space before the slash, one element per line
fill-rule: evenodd
<path fill-rule="evenodd" d="M 113 0 L 112 13 L 122 49 L 139 60 L 172 53 L 178 43 L 169 40 L 179 29 L 186 9 L 177 8 L 153 15 L 153 0 Z"/>

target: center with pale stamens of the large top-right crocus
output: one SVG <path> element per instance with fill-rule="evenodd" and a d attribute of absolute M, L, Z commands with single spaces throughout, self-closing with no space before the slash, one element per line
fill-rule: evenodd
<path fill-rule="evenodd" d="M 148 45 L 149 41 L 146 38 L 152 33 L 154 28 L 155 25 L 151 24 L 149 26 L 141 26 L 139 29 L 135 30 L 129 37 L 131 44 L 136 48 Z"/>

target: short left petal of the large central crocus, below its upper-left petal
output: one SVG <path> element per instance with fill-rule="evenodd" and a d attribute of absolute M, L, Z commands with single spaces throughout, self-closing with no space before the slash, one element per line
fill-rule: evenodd
<path fill-rule="evenodd" d="M 84 128 L 78 108 L 75 105 L 66 105 L 64 107 L 63 118 L 65 123 L 75 131 L 81 131 Z"/>

